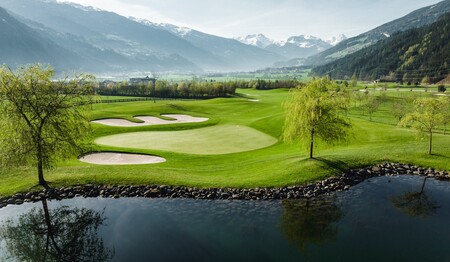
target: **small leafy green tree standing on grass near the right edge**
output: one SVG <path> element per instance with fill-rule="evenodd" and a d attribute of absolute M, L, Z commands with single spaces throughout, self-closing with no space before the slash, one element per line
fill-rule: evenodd
<path fill-rule="evenodd" d="M 412 113 L 406 114 L 400 121 L 400 126 L 411 126 L 417 130 L 419 136 L 424 133 L 428 134 L 429 147 L 428 153 L 432 154 L 433 148 L 433 132 L 434 129 L 443 123 L 444 107 L 441 99 L 431 97 L 422 97 L 414 101 L 414 110 Z"/>

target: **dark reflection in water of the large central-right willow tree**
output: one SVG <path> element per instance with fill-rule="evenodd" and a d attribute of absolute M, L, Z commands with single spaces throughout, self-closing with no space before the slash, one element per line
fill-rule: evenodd
<path fill-rule="evenodd" d="M 333 223 L 343 215 L 336 196 L 284 200 L 282 205 L 280 227 L 286 239 L 302 251 L 307 244 L 322 244 L 336 238 L 337 227 Z"/>

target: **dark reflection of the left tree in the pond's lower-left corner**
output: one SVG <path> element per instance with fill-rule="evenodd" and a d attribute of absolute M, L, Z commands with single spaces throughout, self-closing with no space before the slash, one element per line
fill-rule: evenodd
<path fill-rule="evenodd" d="M 0 240 L 18 261 L 107 261 L 114 251 L 105 248 L 97 229 L 103 214 L 86 208 L 62 206 L 49 210 L 33 208 L 18 220 L 0 227 Z"/>

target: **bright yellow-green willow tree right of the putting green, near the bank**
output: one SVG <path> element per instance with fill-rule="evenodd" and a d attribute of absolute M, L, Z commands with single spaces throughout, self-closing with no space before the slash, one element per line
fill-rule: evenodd
<path fill-rule="evenodd" d="M 284 107 L 283 140 L 299 140 L 313 158 L 314 143 L 334 144 L 347 139 L 350 123 L 341 115 L 349 103 L 348 92 L 328 78 L 312 80 L 292 89 Z"/>

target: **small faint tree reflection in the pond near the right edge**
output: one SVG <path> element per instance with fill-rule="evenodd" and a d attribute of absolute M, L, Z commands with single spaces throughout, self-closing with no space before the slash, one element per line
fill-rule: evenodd
<path fill-rule="evenodd" d="M 428 177 L 425 177 L 423 180 L 420 191 L 406 191 L 401 195 L 393 197 L 391 202 L 394 207 L 402 210 L 410 216 L 425 217 L 434 215 L 436 213 L 436 209 L 440 206 L 437 202 L 429 199 L 424 191 L 427 178 Z"/>

